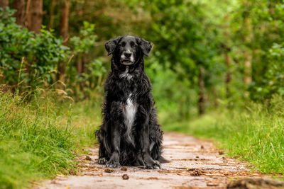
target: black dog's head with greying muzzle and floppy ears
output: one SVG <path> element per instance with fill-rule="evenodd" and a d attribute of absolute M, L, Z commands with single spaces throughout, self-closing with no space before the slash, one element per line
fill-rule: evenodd
<path fill-rule="evenodd" d="M 143 55 L 148 57 L 153 43 L 142 38 L 124 35 L 107 41 L 104 47 L 117 62 L 129 66 L 138 62 L 139 59 L 143 58 Z"/>

